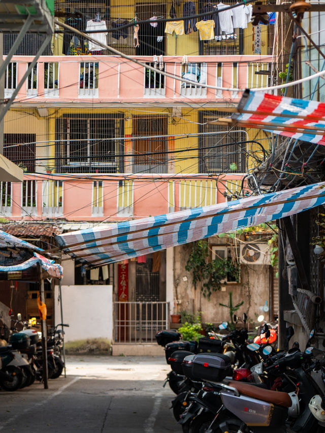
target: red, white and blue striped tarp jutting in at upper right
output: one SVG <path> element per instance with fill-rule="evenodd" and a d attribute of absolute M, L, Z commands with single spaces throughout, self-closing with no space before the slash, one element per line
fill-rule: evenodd
<path fill-rule="evenodd" d="M 245 90 L 232 115 L 242 127 L 325 144 L 325 103 Z"/>

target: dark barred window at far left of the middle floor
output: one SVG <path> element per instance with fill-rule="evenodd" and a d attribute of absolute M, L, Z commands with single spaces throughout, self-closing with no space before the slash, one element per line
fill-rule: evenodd
<path fill-rule="evenodd" d="M 24 168 L 27 172 L 35 172 L 36 134 L 4 134 L 4 156 Z M 12 144 L 24 146 L 6 147 Z"/>

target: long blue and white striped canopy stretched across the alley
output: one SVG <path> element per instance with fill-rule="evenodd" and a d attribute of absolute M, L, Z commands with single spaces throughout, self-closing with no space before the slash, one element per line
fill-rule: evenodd
<path fill-rule="evenodd" d="M 60 249 L 90 267 L 118 262 L 287 217 L 325 203 L 325 182 L 217 205 L 197 207 L 56 239 Z"/>

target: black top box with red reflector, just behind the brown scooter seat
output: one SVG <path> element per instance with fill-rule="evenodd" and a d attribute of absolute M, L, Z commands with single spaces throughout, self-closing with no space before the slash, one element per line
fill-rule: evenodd
<path fill-rule="evenodd" d="M 231 360 L 223 353 L 198 353 L 192 362 L 192 376 L 197 380 L 218 382 L 232 376 Z"/>

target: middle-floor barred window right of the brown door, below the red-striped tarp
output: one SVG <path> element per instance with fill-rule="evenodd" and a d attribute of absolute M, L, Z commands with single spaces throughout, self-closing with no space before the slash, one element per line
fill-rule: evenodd
<path fill-rule="evenodd" d="M 199 111 L 199 123 L 230 115 L 231 113 L 228 112 Z M 212 134 L 222 131 L 224 134 Z M 245 170 L 245 144 L 237 144 L 239 141 L 246 140 L 244 131 L 232 132 L 227 126 L 207 123 L 199 125 L 199 132 L 211 132 L 211 135 L 199 137 L 199 170 L 201 173 L 242 173 Z"/>

